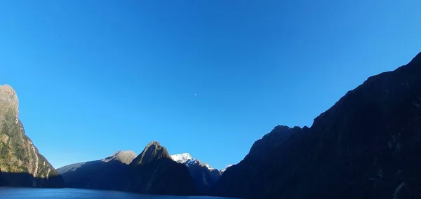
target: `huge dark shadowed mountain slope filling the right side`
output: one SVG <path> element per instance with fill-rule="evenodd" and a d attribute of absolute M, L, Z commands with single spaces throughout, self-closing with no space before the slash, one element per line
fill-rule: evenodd
<path fill-rule="evenodd" d="M 276 143 L 263 137 L 252 149 L 214 195 L 421 198 L 421 53 L 347 92 L 311 128 Z"/>

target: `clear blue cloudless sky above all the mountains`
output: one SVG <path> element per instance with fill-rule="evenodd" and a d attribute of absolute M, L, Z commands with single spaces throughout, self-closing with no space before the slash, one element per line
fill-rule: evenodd
<path fill-rule="evenodd" d="M 221 169 L 421 50 L 421 2 L 0 1 L 0 84 L 55 166 L 157 140 Z M 196 94 L 196 95 L 195 95 Z"/>

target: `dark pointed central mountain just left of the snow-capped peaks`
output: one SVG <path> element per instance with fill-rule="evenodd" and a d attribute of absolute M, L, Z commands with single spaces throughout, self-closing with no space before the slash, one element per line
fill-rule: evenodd
<path fill-rule="evenodd" d="M 176 163 L 159 142 L 150 142 L 128 165 L 122 191 L 159 195 L 195 195 L 185 165 Z"/>

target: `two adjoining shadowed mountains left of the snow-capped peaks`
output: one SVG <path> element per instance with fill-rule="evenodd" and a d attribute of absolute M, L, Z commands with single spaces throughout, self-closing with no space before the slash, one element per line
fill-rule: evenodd
<path fill-rule="evenodd" d="M 138 156 L 117 151 L 102 160 L 60 167 L 66 187 L 131 191 L 149 194 L 194 195 L 187 167 L 171 159 L 159 142 L 147 144 Z"/>

